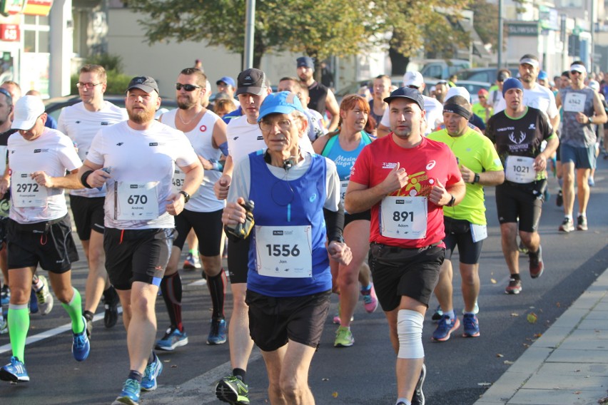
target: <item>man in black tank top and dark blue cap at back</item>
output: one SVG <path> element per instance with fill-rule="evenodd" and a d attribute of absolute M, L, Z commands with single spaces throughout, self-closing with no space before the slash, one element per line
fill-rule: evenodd
<path fill-rule="evenodd" d="M 313 73 L 315 73 L 313 58 L 310 58 L 310 56 L 298 58 L 297 69 L 302 86 L 308 87 L 308 96 L 310 97 L 308 108 L 318 111 L 322 116 L 325 116 L 325 111 L 327 111 L 331 116 L 328 131 L 335 130 L 335 128 L 338 128 L 338 121 L 340 121 L 340 107 L 333 92 L 313 78 Z"/>

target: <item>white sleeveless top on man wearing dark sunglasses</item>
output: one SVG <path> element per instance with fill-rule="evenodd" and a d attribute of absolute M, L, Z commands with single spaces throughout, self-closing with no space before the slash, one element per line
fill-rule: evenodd
<path fill-rule="evenodd" d="M 176 128 L 176 114 L 178 108 L 164 113 L 162 123 L 169 125 L 171 128 Z M 192 147 L 197 155 L 203 158 L 220 160 L 222 152 L 219 149 L 213 148 L 213 128 L 216 123 L 221 121 L 221 118 L 207 110 L 203 114 L 198 125 L 191 131 L 186 132 L 186 138 L 190 140 Z M 215 212 L 223 209 L 226 205 L 224 200 L 218 200 L 216 193 L 213 193 L 213 185 L 221 178 L 222 173 L 217 170 L 205 170 L 203 183 L 198 191 L 192 195 L 190 201 L 186 202 L 186 210 L 195 212 Z M 183 172 L 176 168 L 176 176 L 183 176 Z M 174 179 L 175 180 L 175 179 Z M 181 190 L 181 185 L 174 184 Z"/>

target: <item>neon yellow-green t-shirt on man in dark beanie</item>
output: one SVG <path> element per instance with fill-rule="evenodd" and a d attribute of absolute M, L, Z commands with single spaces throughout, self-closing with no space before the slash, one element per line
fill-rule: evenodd
<path fill-rule="evenodd" d="M 504 170 L 492 142 L 481 133 L 469 128 L 458 137 L 442 129 L 428 135 L 429 139 L 445 143 L 450 147 L 459 165 L 465 165 L 475 173 Z M 443 215 L 456 220 L 467 220 L 476 225 L 486 225 L 483 186 L 467 183 L 467 193 L 455 207 L 443 207 Z"/>

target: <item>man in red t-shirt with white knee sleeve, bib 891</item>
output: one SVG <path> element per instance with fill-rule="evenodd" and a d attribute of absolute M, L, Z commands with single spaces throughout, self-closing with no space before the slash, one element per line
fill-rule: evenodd
<path fill-rule="evenodd" d="M 465 196 L 456 158 L 424 134 L 425 100 L 402 87 L 384 99 L 392 133 L 365 146 L 345 195 L 370 210 L 370 269 L 397 353 L 396 405 L 424 405 L 422 324 L 445 257 L 443 207 Z"/>

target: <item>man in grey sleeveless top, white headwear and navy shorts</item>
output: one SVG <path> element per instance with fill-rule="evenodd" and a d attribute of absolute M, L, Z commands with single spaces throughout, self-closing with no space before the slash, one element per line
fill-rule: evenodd
<path fill-rule="evenodd" d="M 581 61 L 570 66 L 568 88 L 557 93 L 557 105 L 562 107 L 564 121 L 560 138 L 560 160 L 562 161 L 562 188 L 564 198 L 564 220 L 559 225 L 561 232 L 574 230 L 574 173 L 576 173 L 579 212 L 577 230 L 587 230 L 587 204 L 589 203 L 589 174 L 595 168 L 595 143 L 597 134 L 594 125 L 605 123 L 608 118 L 599 94 L 585 86 L 587 69 Z"/>

